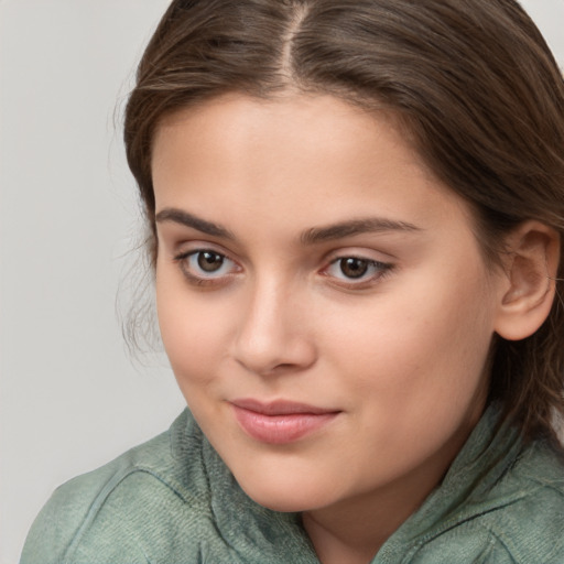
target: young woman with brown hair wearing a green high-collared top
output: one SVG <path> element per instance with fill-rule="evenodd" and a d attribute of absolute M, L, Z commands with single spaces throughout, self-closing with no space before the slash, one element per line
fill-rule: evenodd
<path fill-rule="evenodd" d="M 176 0 L 129 99 L 186 410 L 22 562 L 564 562 L 564 83 L 513 0 Z"/>

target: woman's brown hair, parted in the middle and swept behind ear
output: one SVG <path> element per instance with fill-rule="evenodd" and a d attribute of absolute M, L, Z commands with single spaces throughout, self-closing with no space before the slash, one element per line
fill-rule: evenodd
<path fill-rule="evenodd" d="M 434 174 L 475 209 L 492 262 L 502 236 L 525 219 L 564 234 L 564 82 L 514 0 L 174 0 L 137 80 L 124 139 L 153 259 L 155 128 L 228 91 L 328 93 L 393 112 Z M 497 340 L 490 399 L 527 438 L 555 440 L 563 376 L 556 300 L 534 335 Z"/>

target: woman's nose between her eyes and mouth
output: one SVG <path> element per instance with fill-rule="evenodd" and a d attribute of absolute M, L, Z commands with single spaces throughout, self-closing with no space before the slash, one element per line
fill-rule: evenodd
<path fill-rule="evenodd" d="M 240 312 L 234 356 L 247 370 L 268 376 L 301 371 L 315 362 L 306 304 L 297 294 L 276 281 L 258 283 L 249 289 Z"/>

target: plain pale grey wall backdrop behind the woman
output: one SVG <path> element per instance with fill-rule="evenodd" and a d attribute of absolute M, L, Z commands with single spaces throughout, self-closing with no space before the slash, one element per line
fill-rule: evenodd
<path fill-rule="evenodd" d="M 184 406 L 116 317 L 141 229 L 121 110 L 167 3 L 0 0 L 0 564 L 56 486 Z M 563 66 L 564 0 L 522 3 Z"/>

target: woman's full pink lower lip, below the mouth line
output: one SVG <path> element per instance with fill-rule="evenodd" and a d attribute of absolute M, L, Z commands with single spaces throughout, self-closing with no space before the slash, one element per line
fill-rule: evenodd
<path fill-rule="evenodd" d="M 289 413 L 265 415 L 234 405 L 242 430 L 261 443 L 283 445 L 311 435 L 333 421 L 338 413 Z"/>

